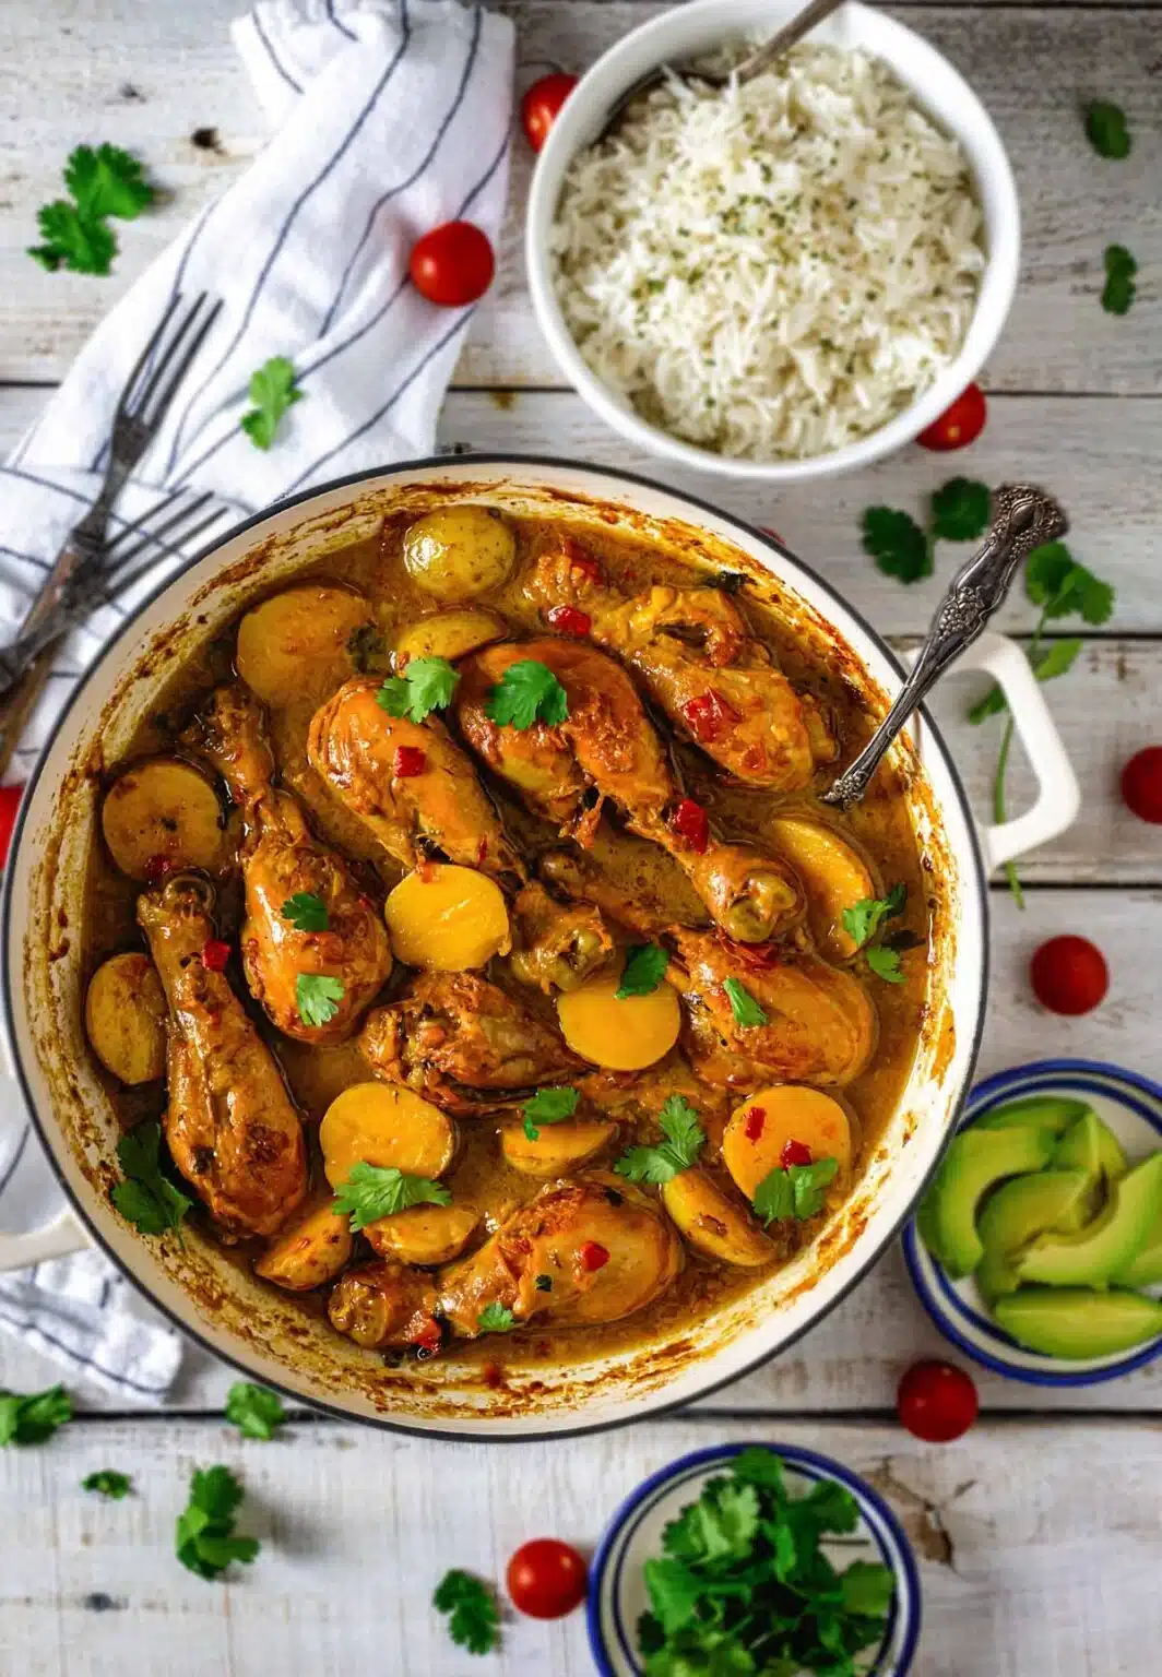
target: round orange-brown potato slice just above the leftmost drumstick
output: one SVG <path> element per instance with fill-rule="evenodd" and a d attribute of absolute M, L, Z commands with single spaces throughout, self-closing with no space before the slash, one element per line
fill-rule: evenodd
<path fill-rule="evenodd" d="M 159 860 L 215 869 L 223 855 L 218 793 L 176 756 L 151 756 L 119 775 L 106 793 L 101 830 L 131 879 L 149 879 Z"/>

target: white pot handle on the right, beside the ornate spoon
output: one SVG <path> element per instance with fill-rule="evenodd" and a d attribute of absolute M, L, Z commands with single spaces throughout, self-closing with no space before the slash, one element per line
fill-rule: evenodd
<path fill-rule="evenodd" d="M 981 669 L 996 681 L 1036 775 L 1036 798 L 1023 815 L 981 825 L 984 862 L 994 869 L 1071 827 L 1082 807 L 1082 792 L 1041 684 L 1016 641 L 989 629 L 949 666 L 949 671 L 954 669 Z"/>

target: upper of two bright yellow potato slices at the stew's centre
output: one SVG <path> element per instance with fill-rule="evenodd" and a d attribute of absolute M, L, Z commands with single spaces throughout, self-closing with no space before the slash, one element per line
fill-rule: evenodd
<path fill-rule="evenodd" d="M 428 973 L 466 973 L 513 946 L 500 885 L 475 867 L 433 862 L 401 879 L 384 904 L 391 946 Z"/>

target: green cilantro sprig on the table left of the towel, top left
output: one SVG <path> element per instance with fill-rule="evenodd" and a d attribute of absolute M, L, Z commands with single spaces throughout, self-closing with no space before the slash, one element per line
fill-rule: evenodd
<path fill-rule="evenodd" d="M 39 211 L 44 245 L 30 245 L 29 255 L 49 273 L 57 268 L 109 273 L 117 253 L 109 216 L 132 221 L 153 203 L 154 190 L 141 163 L 121 146 L 97 146 L 96 151 L 77 146 L 69 153 L 64 181 L 72 203 L 57 198 Z"/>

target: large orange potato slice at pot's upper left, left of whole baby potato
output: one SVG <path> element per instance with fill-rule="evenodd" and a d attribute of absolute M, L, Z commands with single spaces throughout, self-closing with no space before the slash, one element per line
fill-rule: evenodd
<path fill-rule="evenodd" d="M 330 693 L 354 667 L 347 642 L 371 620 L 361 594 L 303 582 L 246 612 L 238 624 L 235 669 L 267 704 L 288 704 L 307 689 Z"/>

